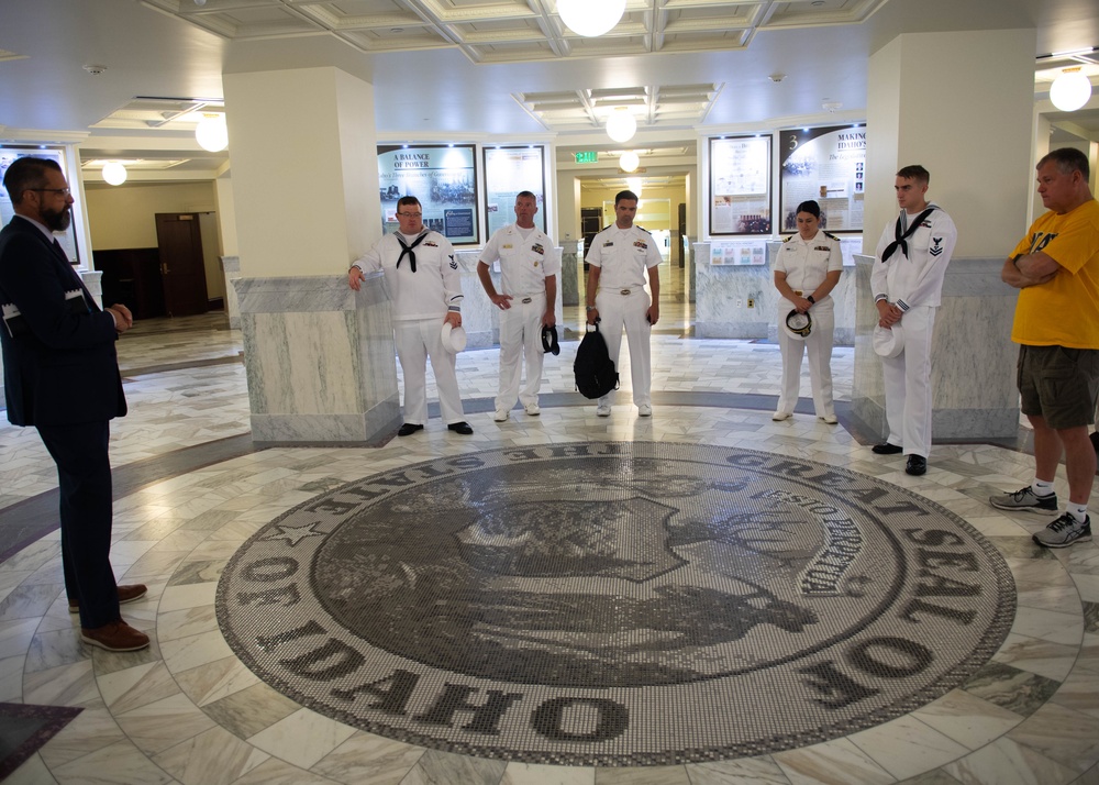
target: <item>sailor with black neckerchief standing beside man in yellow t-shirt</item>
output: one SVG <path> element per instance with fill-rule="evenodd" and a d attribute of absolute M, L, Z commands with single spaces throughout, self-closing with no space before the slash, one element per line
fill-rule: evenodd
<path fill-rule="evenodd" d="M 931 454 L 931 339 L 943 279 L 957 242 L 951 217 L 926 200 L 930 174 L 919 165 L 897 173 L 900 214 L 886 224 L 870 270 L 878 325 L 900 328 L 903 351 L 881 357 L 889 438 L 879 455 L 903 452 L 908 474 L 928 471 Z"/>

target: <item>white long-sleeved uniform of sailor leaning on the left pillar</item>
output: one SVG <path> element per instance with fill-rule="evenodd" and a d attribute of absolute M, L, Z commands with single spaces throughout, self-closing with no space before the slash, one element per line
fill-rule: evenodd
<path fill-rule="evenodd" d="M 393 319 L 397 358 L 404 375 L 404 422 L 422 425 L 428 421 L 428 358 L 435 374 L 439 408 L 443 422 L 453 424 L 465 418 L 455 355 L 443 347 L 442 329 L 447 311 L 458 311 L 462 280 L 454 247 L 439 232 L 424 230 L 414 236 L 401 235 L 411 254 L 401 257 L 397 234 L 387 234 L 374 244 L 354 266 L 364 273 L 381 270 L 386 276 Z M 413 272 L 414 268 L 414 272 Z"/>

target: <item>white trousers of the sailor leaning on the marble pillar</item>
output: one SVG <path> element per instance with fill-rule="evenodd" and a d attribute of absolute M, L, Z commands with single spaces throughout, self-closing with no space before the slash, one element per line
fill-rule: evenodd
<path fill-rule="evenodd" d="M 393 338 L 397 358 L 404 375 L 404 422 L 422 425 L 428 422 L 428 360 L 435 374 L 439 409 L 447 425 L 462 422 L 462 396 L 454 371 L 455 354 L 443 349 L 443 320 L 419 319 L 395 321 Z"/>

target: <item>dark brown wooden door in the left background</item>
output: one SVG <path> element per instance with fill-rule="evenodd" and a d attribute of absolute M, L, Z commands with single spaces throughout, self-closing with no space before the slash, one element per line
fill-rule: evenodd
<path fill-rule="evenodd" d="M 206 313 L 210 299 L 198 213 L 156 213 L 156 243 L 160 252 L 164 305 L 168 316 Z"/>

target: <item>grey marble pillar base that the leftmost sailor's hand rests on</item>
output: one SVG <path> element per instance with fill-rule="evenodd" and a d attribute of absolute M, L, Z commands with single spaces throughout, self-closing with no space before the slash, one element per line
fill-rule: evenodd
<path fill-rule="evenodd" d="M 389 299 L 380 274 L 236 278 L 252 439 L 374 445 L 401 423 Z"/>

